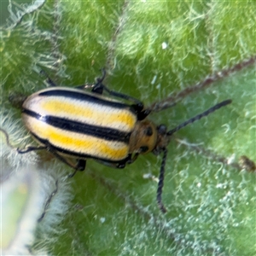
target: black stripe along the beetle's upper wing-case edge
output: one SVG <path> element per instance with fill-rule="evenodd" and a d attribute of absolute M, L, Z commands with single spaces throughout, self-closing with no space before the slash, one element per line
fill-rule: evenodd
<path fill-rule="evenodd" d="M 108 99 L 103 99 L 101 97 L 98 97 L 91 94 L 86 94 L 85 92 L 73 91 L 73 90 L 63 90 L 63 89 L 55 89 L 55 90 L 44 90 L 42 92 L 38 93 L 38 96 L 63 96 L 72 99 L 76 99 L 82 102 L 92 102 L 96 104 L 100 104 L 102 106 L 108 106 L 112 108 L 129 108 L 132 113 L 135 113 L 134 108 L 132 108 L 131 105 L 125 104 L 122 102 L 111 102 Z"/>

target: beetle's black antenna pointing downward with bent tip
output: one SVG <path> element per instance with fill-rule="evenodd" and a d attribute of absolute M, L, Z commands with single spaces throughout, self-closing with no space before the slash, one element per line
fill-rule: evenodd
<path fill-rule="evenodd" d="M 159 182 L 158 182 L 158 188 L 157 188 L 157 193 L 156 193 L 156 201 L 158 203 L 158 206 L 160 207 L 160 211 L 163 213 L 166 213 L 166 207 L 164 206 L 162 202 L 162 191 L 164 187 L 164 179 L 165 179 L 165 167 L 166 167 L 166 157 L 167 157 L 167 152 L 168 150 L 166 148 L 163 148 L 163 160 L 161 162 L 161 167 L 160 167 L 160 175 L 159 175 Z"/>

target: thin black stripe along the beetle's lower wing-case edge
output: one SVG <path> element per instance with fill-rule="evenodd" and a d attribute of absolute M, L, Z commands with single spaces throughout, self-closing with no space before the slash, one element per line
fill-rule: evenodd
<path fill-rule="evenodd" d="M 34 137 L 38 142 L 44 144 L 49 152 L 50 151 L 55 151 L 56 153 L 62 153 L 62 154 L 67 154 L 69 155 L 70 157 L 73 157 L 73 158 L 76 158 L 76 159 L 95 159 L 95 160 L 102 160 L 104 162 L 107 162 L 107 163 L 121 163 L 121 162 L 126 162 L 127 160 L 130 160 L 131 159 L 131 156 L 128 154 L 125 159 L 123 160 L 108 160 L 108 159 L 105 159 L 105 158 L 101 158 L 101 157 L 97 157 L 95 155 L 91 155 L 91 154 L 81 154 L 81 153 L 78 153 L 78 152 L 74 152 L 74 151 L 70 151 L 70 150 L 67 150 L 65 148 L 60 148 L 60 147 L 56 147 L 54 145 L 52 145 L 51 143 L 49 143 L 48 140 L 45 140 L 45 139 L 42 139 L 38 136 L 36 136 L 34 133 L 32 133 L 32 137 Z"/>

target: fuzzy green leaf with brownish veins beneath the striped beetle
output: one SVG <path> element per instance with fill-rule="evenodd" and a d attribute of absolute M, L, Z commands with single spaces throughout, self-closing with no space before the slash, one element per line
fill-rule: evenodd
<path fill-rule="evenodd" d="M 4 119 L 20 120 L 9 92 L 28 95 L 45 87 L 41 69 L 73 87 L 93 83 L 105 67 L 111 90 L 149 107 L 177 102 L 149 116 L 169 129 L 232 99 L 173 136 L 166 215 L 155 201 L 156 178 L 143 178 L 158 177 L 161 157 L 140 156 L 124 170 L 88 160 L 71 182 L 73 207 L 61 225 L 67 232 L 49 234 L 55 238 L 49 252 L 255 255 L 255 173 L 238 163 L 241 155 L 256 160 L 255 3 L 70 0 L 15 8 L 1 30 Z M 16 135 L 25 130 L 18 124 Z M 49 161 L 51 169 L 60 166 L 72 172 Z"/>

